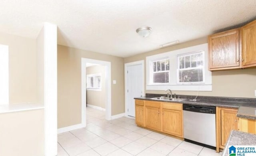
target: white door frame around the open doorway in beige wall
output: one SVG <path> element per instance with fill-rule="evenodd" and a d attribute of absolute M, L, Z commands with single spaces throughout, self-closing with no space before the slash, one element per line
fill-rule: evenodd
<path fill-rule="evenodd" d="M 86 63 L 105 66 L 106 71 L 106 120 L 111 120 L 111 62 L 96 59 L 81 58 L 81 89 L 82 89 L 82 124 L 86 126 Z"/>

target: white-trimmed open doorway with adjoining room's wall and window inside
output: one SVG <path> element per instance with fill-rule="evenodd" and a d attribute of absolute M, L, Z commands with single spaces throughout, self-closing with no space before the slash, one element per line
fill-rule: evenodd
<path fill-rule="evenodd" d="M 108 61 L 100 61 L 96 59 L 82 58 L 81 63 L 81 79 L 82 79 L 82 123 L 86 126 L 86 104 L 89 107 L 94 107 L 96 109 L 102 109 L 106 111 L 105 119 L 111 119 L 111 63 Z M 88 66 L 88 71 L 86 70 L 86 65 Z M 104 73 L 96 72 L 92 73 L 89 67 L 98 66 Z M 96 67 L 97 68 L 97 67 Z M 96 69 L 95 68 L 95 69 Z M 104 82 L 104 83 L 102 83 Z M 86 85 L 87 83 L 87 85 Z M 104 85 L 104 86 L 103 86 Z M 104 88 L 104 92 L 101 92 Z M 88 91 L 88 93 L 87 93 Z M 95 92 L 98 92 L 97 93 Z M 98 99 L 104 96 L 103 103 L 99 104 L 93 99 L 86 97 L 86 95 L 94 96 Z M 86 103 L 86 101 L 88 103 Z M 99 101 L 98 101 L 99 102 Z M 97 104 L 96 104 L 97 103 Z"/>

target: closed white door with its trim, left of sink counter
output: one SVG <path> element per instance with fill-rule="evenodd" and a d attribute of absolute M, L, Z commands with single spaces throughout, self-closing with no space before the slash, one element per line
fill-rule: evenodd
<path fill-rule="evenodd" d="M 125 116 L 135 117 L 134 97 L 144 96 L 144 60 L 124 64 Z"/>

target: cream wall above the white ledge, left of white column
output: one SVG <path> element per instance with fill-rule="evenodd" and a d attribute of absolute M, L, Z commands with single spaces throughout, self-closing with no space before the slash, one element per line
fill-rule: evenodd
<path fill-rule="evenodd" d="M 36 39 L 0 33 L 0 44 L 9 45 L 10 103 L 36 101 Z"/>

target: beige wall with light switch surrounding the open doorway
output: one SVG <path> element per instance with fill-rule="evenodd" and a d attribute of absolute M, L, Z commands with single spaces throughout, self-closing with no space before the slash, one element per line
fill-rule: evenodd
<path fill-rule="evenodd" d="M 58 45 L 58 128 L 81 123 L 81 58 L 111 62 L 112 115 L 124 113 L 124 59 Z"/>

